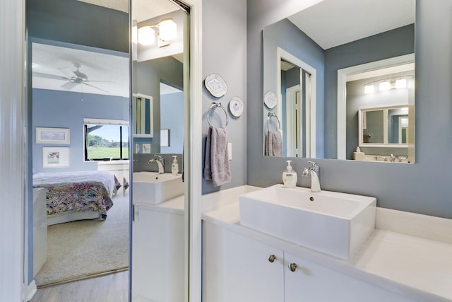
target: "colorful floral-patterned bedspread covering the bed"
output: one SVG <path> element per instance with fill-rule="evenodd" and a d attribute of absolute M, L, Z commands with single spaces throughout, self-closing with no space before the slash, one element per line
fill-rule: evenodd
<path fill-rule="evenodd" d="M 102 172 L 109 173 L 109 171 Z M 107 190 L 106 184 L 102 181 L 95 180 L 96 178 L 98 179 L 98 175 L 91 177 L 94 180 L 81 181 L 78 178 L 72 178 L 72 175 L 66 175 L 65 177 L 64 174 L 61 174 L 59 183 L 54 181 L 46 183 L 41 179 L 42 174 L 47 173 L 38 173 L 36 178 L 33 175 L 33 187 L 45 187 L 47 189 L 47 215 L 97 211 L 105 218 L 107 211 L 113 206 L 112 198 L 109 190 Z M 110 175 L 106 176 L 109 177 Z M 111 177 L 114 186 L 119 184 L 113 173 Z M 71 178 L 74 181 L 71 181 Z"/>

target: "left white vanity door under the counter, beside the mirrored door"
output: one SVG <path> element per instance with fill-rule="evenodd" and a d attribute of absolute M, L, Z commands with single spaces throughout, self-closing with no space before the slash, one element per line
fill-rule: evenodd
<path fill-rule="evenodd" d="M 204 302 L 275 302 L 283 295 L 282 250 L 203 222 Z"/>

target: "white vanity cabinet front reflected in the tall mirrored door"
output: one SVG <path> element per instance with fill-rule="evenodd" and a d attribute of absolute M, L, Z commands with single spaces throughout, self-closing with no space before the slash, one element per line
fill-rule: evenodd
<path fill-rule="evenodd" d="M 132 301 L 184 301 L 184 216 L 135 208 Z"/>

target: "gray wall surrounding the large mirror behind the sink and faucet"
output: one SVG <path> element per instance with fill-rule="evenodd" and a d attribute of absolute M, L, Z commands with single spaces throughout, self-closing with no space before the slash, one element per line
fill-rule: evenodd
<path fill-rule="evenodd" d="M 248 0 L 247 180 L 249 185 L 282 183 L 283 158 L 262 156 L 261 30 L 302 8 L 298 0 Z M 318 159 L 323 190 L 374 196 L 378 206 L 452 218 L 452 2 L 417 0 L 416 163 L 384 164 Z M 441 35 L 439 35 L 441 30 Z M 327 96 L 326 96 L 327 98 Z M 329 100 L 329 98 L 328 98 Z M 328 105 L 328 104 L 326 104 Z M 335 121 L 335 107 L 326 120 Z M 333 112 L 328 112 L 331 110 Z M 335 141 L 334 143 L 335 144 Z M 295 158 L 301 174 L 307 159 Z M 299 177 L 298 185 L 309 185 Z"/>

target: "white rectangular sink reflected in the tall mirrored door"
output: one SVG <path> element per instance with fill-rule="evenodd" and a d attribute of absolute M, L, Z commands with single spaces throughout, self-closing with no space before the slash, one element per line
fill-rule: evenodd
<path fill-rule="evenodd" d="M 133 173 L 133 204 L 160 204 L 184 194 L 181 175 L 156 172 Z"/>

